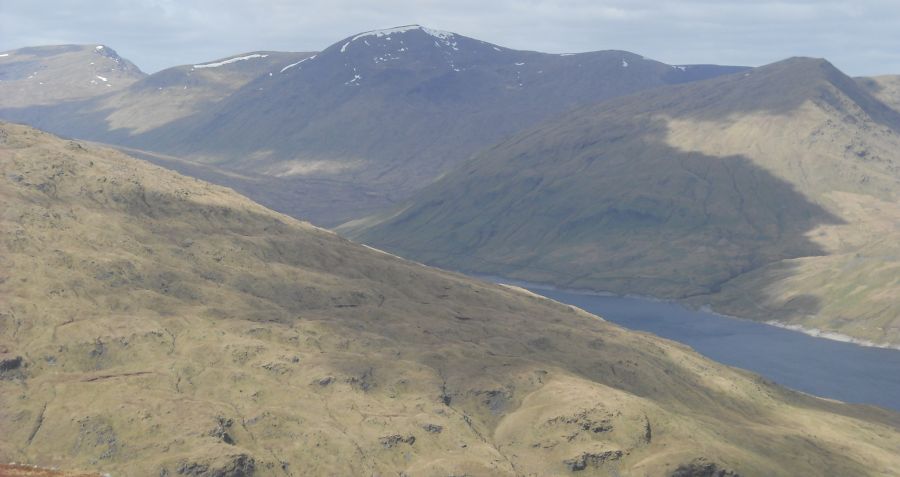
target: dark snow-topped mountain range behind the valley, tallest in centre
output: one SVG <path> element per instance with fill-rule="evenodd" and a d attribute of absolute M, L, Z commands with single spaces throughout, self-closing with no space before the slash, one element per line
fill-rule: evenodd
<path fill-rule="evenodd" d="M 100 116 L 80 112 L 108 106 L 7 109 L 0 117 L 295 189 L 327 184 L 324 198 L 269 205 L 333 225 L 359 217 L 360 205 L 329 197 L 366 190 L 369 211 L 382 209 L 480 148 L 566 110 L 738 70 L 671 66 L 623 51 L 517 51 L 413 25 L 360 33 L 304 61 L 282 62 L 196 114 L 140 121 L 150 129 L 117 129 L 128 123 L 115 117 L 132 113 L 115 107 Z M 244 192 L 257 198 L 254 190 Z"/>

